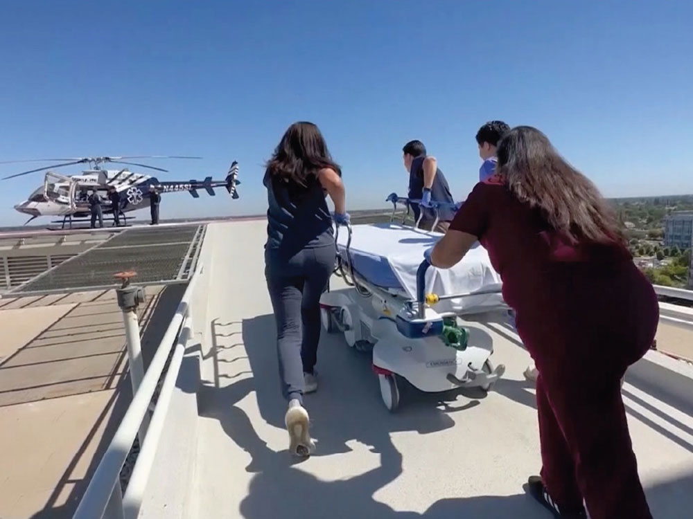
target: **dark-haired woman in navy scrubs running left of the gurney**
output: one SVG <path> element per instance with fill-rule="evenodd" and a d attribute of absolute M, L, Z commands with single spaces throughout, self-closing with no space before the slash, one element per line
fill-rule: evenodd
<path fill-rule="evenodd" d="M 263 183 L 267 188 L 265 277 L 277 322 L 277 354 L 289 450 L 308 455 L 315 448 L 308 432 L 303 395 L 317 390 L 320 296 L 335 266 L 333 217 L 349 224 L 340 167 L 311 122 L 296 122 L 281 138 Z"/>

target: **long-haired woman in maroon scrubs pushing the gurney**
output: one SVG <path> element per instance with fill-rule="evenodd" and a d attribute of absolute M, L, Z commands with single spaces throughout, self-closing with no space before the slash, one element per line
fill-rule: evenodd
<path fill-rule="evenodd" d="M 597 188 L 541 131 L 517 127 L 428 257 L 450 268 L 479 240 L 539 376 L 541 477 L 528 490 L 556 517 L 651 518 L 620 379 L 652 344 L 651 284 Z"/>

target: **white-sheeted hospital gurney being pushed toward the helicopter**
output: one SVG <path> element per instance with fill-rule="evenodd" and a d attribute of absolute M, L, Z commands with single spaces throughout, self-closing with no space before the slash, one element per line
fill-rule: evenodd
<path fill-rule="evenodd" d="M 388 200 L 418 203 L 396 195 Z M 488 391 L 505 372 L 489 361 L 493 340 L 474 322 L 481 315 L 507 317 L 500 276 L 479 245 L 449 270 L 430 267 L 423 251 L 441 236 L 418 222 L 337 228 L 337 275 L 352 288 L 322 295 L 323 327 L 342 331 L 351 347 L 372 347 L 390 411 L 398 407 L 401 379 L 425 392 Z"/>

